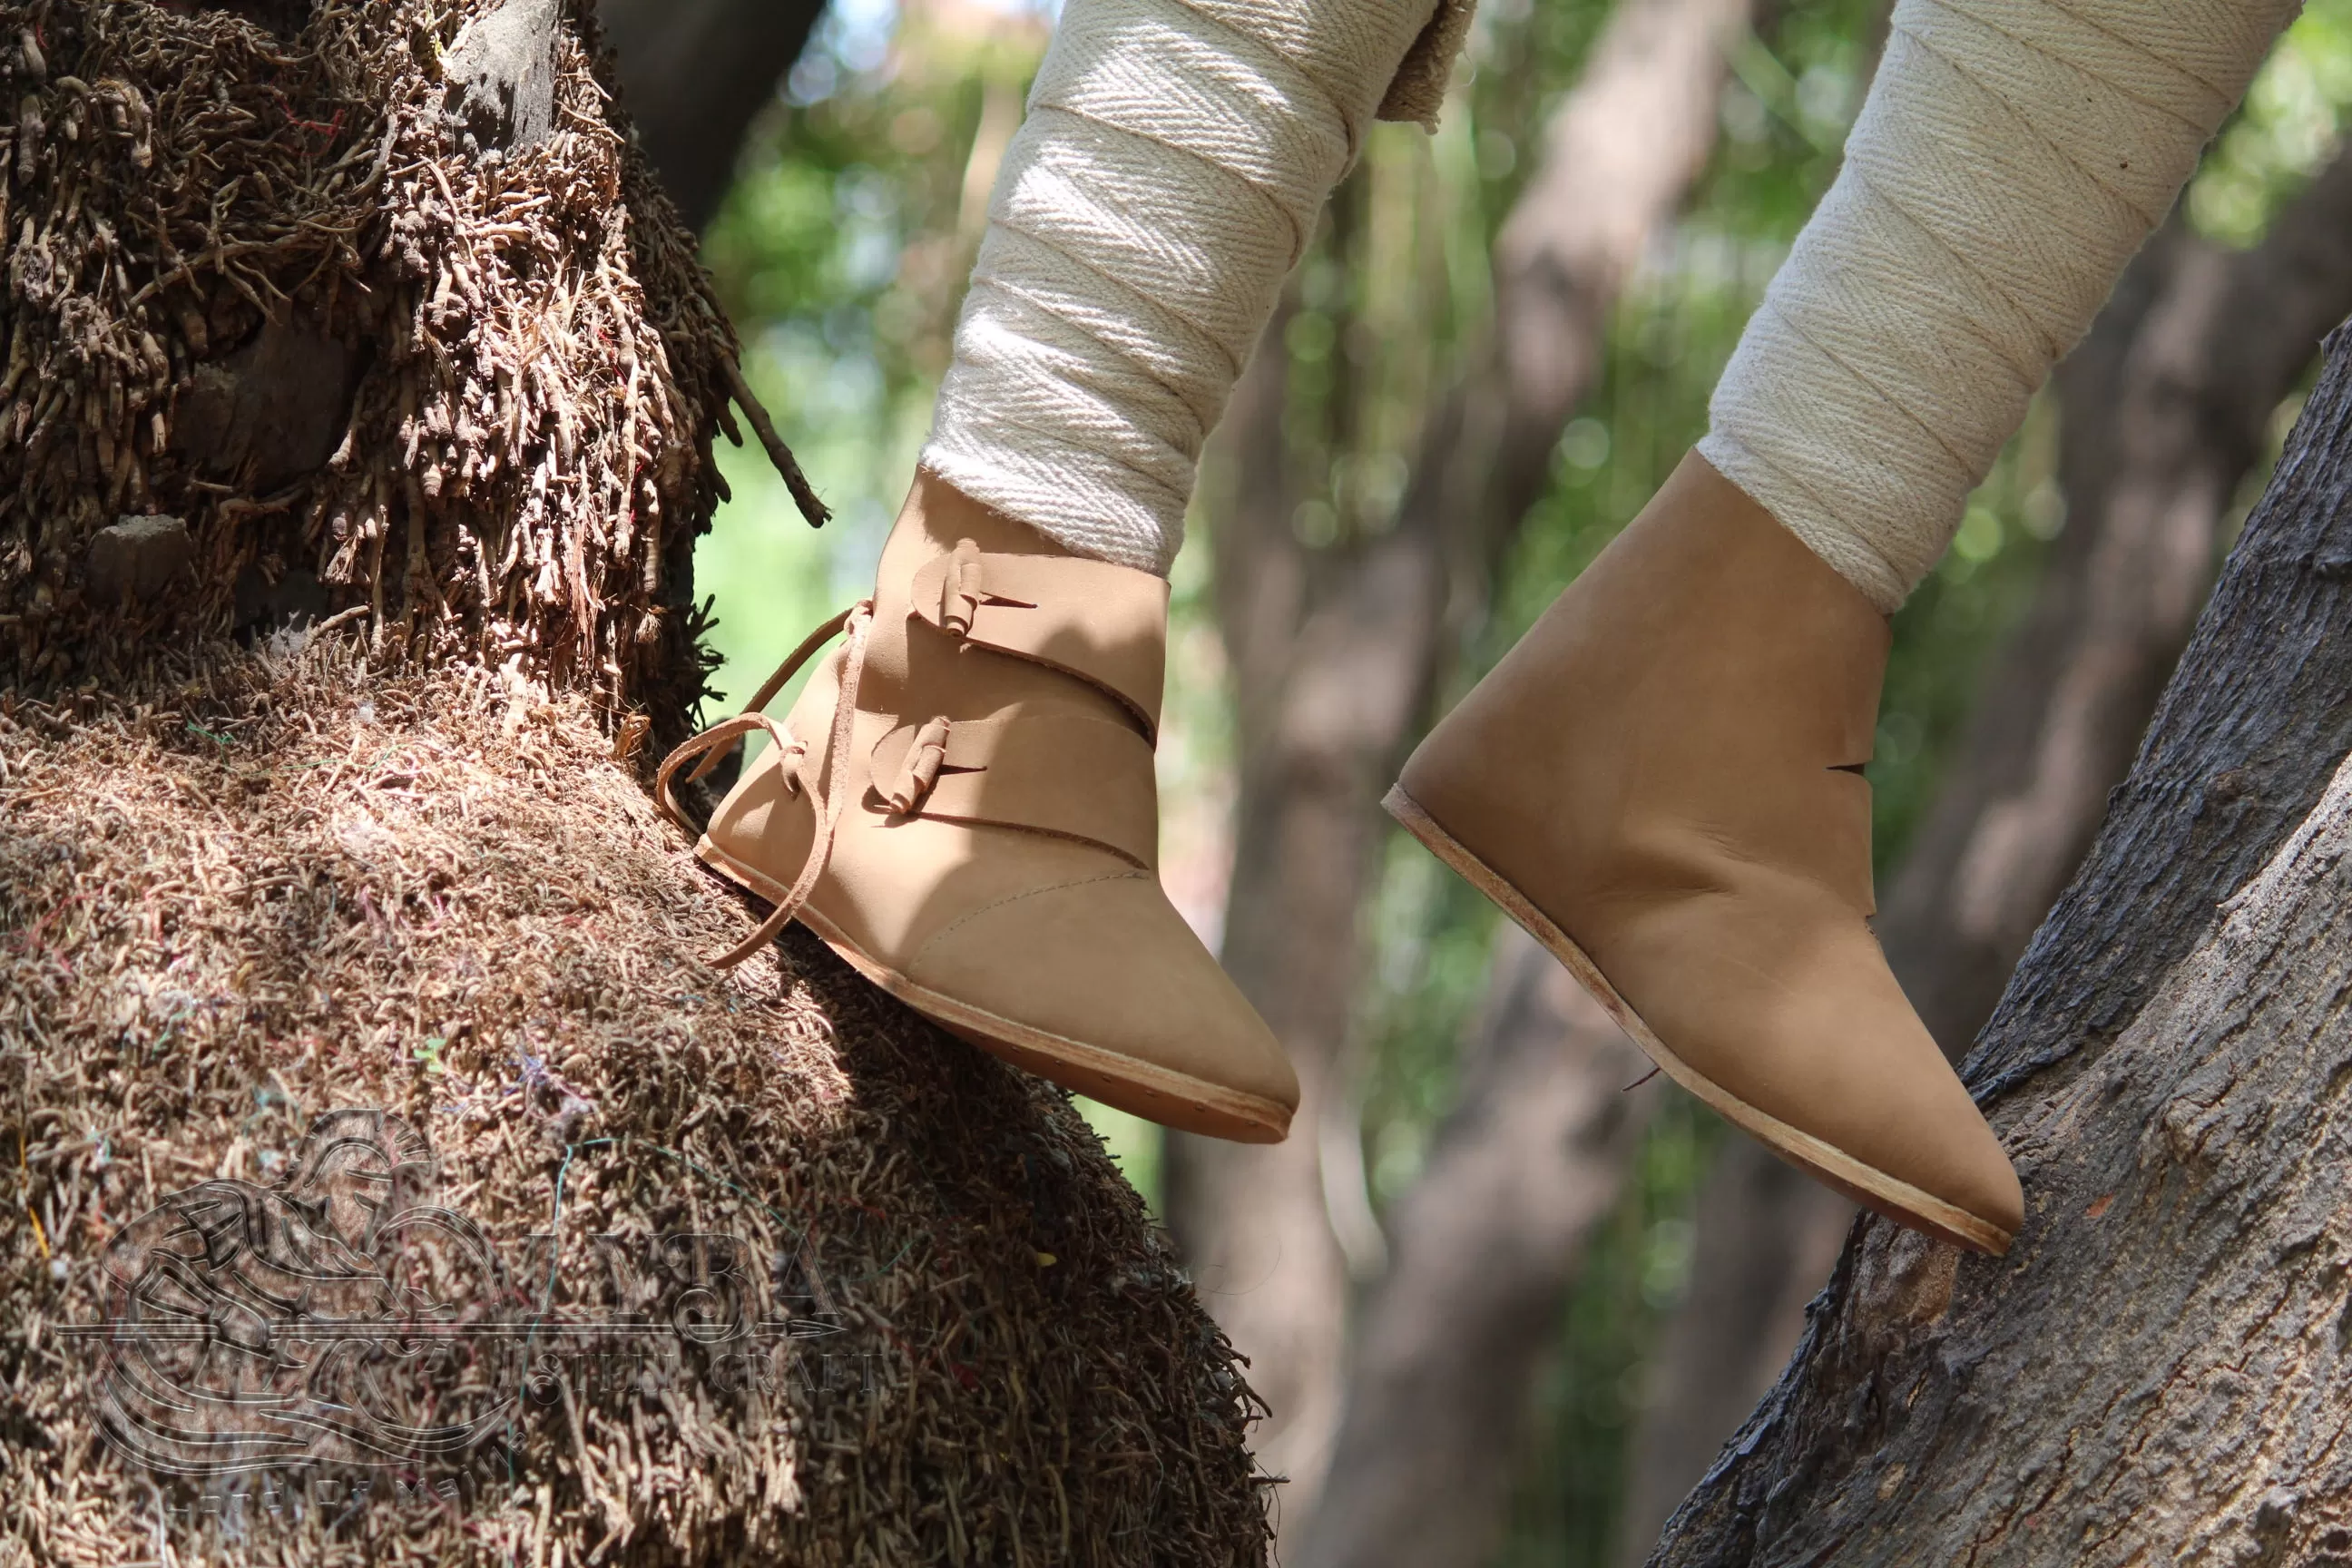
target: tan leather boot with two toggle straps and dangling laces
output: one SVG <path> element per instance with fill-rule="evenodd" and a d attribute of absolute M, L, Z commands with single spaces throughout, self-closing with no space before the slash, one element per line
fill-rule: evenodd
<path fill-rule="evenodd" d="M 774 736 L 696 844 L 915 1011 L 1167 1126 L 1277 1143 L 1298 1079 L 1160 891 L 1169 585 L 1070 555 L 924 473 L 875 597 L 661 764 Z M 760 712 L 833 635 L 790 717 Z M 682 818 L 680 818 L 682 820 Z"/>

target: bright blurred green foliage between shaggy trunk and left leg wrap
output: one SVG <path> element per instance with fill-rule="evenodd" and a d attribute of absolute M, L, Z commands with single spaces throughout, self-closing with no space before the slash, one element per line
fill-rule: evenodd
<path fill-rule="evenodd" d="M 722 701 L 873 583 L 978 247 L 974 143 L 983 120 L 997 146 L 1011 134 L 1044 47 L 1040 16 L 990 21 L 828 14 L 703 237 L 746 376 L 835 510 L 811 534 L 757 447 L 722 449 L 734 501 L 696 552 L 696 581 L 717 597 Z"/>

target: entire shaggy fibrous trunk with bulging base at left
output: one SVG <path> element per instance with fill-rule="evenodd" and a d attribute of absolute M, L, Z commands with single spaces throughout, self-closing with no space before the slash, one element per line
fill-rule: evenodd
<path fill-rule="evenodd" d="M 1263 1563 L 1068 1098 L 703 961 L 748 393 L 593 61 L 0 2 L 0 1561 Z"/>

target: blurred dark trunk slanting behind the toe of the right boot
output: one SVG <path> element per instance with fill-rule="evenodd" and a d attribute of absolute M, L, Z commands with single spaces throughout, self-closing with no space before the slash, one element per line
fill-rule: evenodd
<path fill-rule="evenodd" d="M 2178 221 L 2159 230 L 2058 369 L 2067 527 L 1879 914 L 1903 987 L 1955 1058 L 2082 863 L 2187 642 L 2272 409 L 2347 310 L 2352 155 L 2340 155 L 2251 252 Z M 1745 1140 L 1719 1157 L 1635 1441 L 1625 1561 L 1649 1554 L 1780 1373 L 1851 1213 Z M 1757 1248 L 1764 1234 L 1792 1246 Z"/>

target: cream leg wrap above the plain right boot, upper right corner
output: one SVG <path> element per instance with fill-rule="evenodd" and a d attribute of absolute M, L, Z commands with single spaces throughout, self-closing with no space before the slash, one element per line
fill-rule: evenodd
<path fill-rule="evenodd" d="M 2298 0 L 1900 0 L 1698 451 L 1893 611 Z"/>

